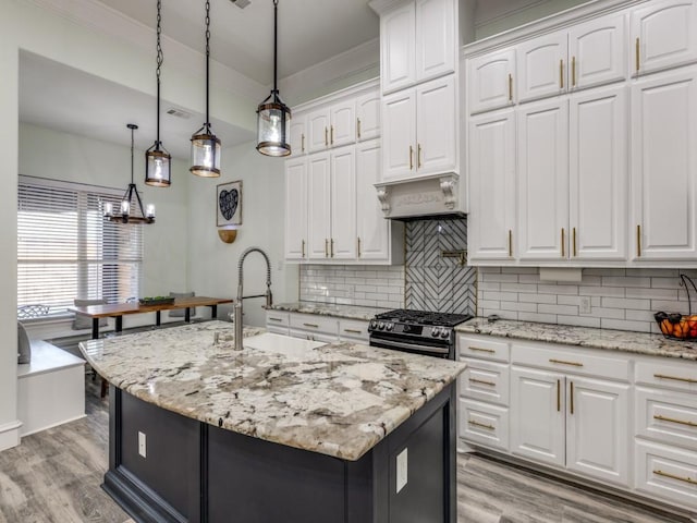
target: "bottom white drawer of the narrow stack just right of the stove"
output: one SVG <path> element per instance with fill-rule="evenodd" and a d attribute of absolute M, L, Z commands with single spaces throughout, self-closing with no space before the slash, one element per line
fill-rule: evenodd
<path fill-rule="evenodd" d="M 509 451 L 509 410 L 460 399 L 458 435 L 467 442 Z"/>

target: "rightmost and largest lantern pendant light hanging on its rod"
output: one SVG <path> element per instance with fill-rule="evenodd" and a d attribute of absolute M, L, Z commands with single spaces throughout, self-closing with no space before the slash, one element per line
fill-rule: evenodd
<path fill-rule="evenodd" d="M 257 150 L 267 156 L 288 156 L 291 110 L 279 97 L 278 88 L 279 0 L 273 0 L 273 89 L 257 109 Z"/>

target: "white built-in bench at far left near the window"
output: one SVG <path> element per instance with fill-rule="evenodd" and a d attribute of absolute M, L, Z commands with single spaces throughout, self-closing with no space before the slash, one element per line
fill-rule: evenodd
<path fill-rule="evenodd" d="M 85 361 L 32 340 L 32 363 L 17 365 L 21 436 L 85 417 Z"/>

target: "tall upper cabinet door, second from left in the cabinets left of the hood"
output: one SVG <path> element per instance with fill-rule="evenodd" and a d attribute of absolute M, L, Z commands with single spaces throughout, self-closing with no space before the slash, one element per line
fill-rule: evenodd
<path fill-rule="evenodd" d="M 329 153 L 307 159 L 307 255 L 310 259 L 329 258 L 331 238 L 331 182 Z"/>

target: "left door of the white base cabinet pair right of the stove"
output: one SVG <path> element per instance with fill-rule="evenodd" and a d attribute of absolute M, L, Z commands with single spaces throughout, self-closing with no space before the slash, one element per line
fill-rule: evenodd
<path fill-rule="evenodd" d="M 564 466 L 564 376 L 511 368 L 511 451 Z"/>

